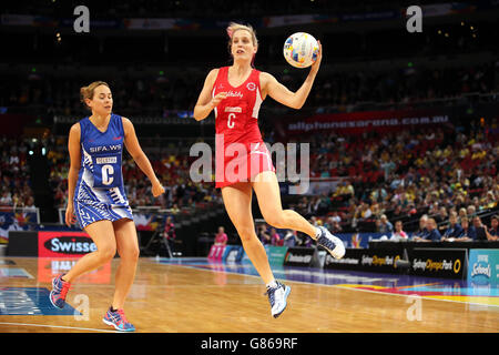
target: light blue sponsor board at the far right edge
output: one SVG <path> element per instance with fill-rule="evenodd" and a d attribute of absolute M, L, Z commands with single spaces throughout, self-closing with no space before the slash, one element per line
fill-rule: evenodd
<path fill-rule="evenodd" d="M 471 248 L 468 265 L 468 282 L 476 285 L 499 284 L 499 250 Z"/>

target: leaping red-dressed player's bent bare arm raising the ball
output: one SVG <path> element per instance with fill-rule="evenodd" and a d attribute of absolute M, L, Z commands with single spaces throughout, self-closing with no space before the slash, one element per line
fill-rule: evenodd
<path fill-rule="evenodd" d="M 292 109 L 302 109 L 308 98 L 308 94 L 310 93 L 312 85 L 314 83 L 315 77 L 317 75 L 318 69 L 320 67 L 320 61 L 323 59 L 323 47 L 319 41 L 318 44 L 319 50 L 317 53 L 317 60 L 314 62 L 314 64 L 312 64 L 310 71 L 305 79 L 305 82 L 296 92 L 291 91 L 285 85 L 279 83 L 277 79 L 275 79 L 272 74 L 262 72 L 261 83 L 263 95 L 265 97 L 266 94 L 268 94 L 275 101 Z"/>

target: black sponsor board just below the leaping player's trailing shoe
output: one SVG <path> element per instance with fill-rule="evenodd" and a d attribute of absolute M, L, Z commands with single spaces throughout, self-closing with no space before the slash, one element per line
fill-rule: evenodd
<path fill-rule="evenodd" d="M 347 248 L 342 258 L 334 258 L 327 253 L 324 268 L 394 273 L 398 272 L 396 262 L 401 256 L 397 250 Z"/>

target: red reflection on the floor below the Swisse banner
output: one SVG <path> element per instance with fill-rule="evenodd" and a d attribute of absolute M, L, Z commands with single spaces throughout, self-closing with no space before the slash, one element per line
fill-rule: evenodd
<path fill-rule="evenodd" d="M 38 281 L 51 283 L 52 278 L 59 274 L 67 273 L 78 262 L 75 257 L 39 257 L 38 258 Z M 110 284 L 111 262 L 99 266 L 91 272 L 78 277 L 78 283 L 82 284 Z"/>

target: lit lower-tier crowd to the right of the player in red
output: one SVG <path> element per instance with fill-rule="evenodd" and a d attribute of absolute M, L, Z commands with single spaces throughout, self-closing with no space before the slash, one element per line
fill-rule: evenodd
<path fill-rule="evenodd" d="M 499 207 L 499 126 L 376 135 L 312 136 L 310 174 L 343 176 L 329 194 L 293 206 L 336 231 L 393 231 L 396 221 L 428 214 L 439 226 Z M 304 140 L 304 138 L 301 138 Z M 389 222 L 387 222 L 389 221 Z M 388 227 L 386 226 L 388 223 Z M 408 225 L 411 231 L 417 225 Z"/>

